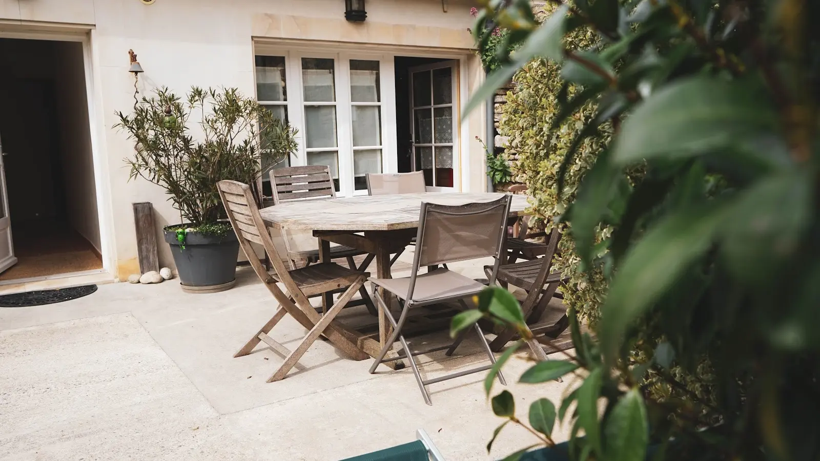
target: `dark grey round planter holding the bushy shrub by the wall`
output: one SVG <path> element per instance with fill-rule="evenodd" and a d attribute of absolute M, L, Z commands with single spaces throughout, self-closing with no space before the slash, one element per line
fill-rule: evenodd
<path fill-rule="evenodd" d="M 239 240 L 234 230 L 225 235 L 185 234 L 185 243 L 176 239 L 174 230 L 164 229 L 165 241 L 171 245 L 182 290 L 189 293 L 216 293 L 236 283 L 236 259 Z M 182 246 L 185 246 L 185 249 Z"/>

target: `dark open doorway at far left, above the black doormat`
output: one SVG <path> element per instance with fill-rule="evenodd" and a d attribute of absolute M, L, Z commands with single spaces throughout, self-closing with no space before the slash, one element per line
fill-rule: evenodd
<path fill-rule="evenodd" d="M 88 111 L 82 43 L 0 39 L 0 283 L 103 268 Z"/>

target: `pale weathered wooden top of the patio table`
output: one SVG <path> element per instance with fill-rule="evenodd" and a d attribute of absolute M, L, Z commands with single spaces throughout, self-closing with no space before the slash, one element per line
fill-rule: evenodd
<path fill-rule="evenodd" d="M 418 226 L 421 202 L 462 205 L 500 199 L 496 193 L 428 192 L 422 194 L 359 195 L 280 203 L 262 208 L 262 219 L 281 229 L 399 230 Z M 513 195 L 511 216 L 522 214 L 526 195 Z"/>

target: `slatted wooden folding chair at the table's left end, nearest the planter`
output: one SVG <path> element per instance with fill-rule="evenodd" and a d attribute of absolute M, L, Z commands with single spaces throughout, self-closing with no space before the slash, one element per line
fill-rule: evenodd
<path fill-rule="evenodd" d="M 346 332 L 334 326 L 333 321 L 336 314 L 344 308 L 353 294 L 355 294 L 367 280 L 369 274 L 367 272 L 358 272 L 339 266 L 334 262 L 321 262 L 309 267 L 300 269 L 288 270 L 285 263 L 282 262 L 279 252 L 271 240 L 271 235 L 267 233 L 265 223 L 259 215 L 259 209 L 253 200 L 250 187 L 237 181 L 222 180 L 219 182 L 219 194 L 222 203 L 225 205 L 225 211 L 228 213 L 231 226 L 234 227 L 236 236 L 239 239 L 239 244 L 242 246 L 245 254 L 248 255 L 253 270 L 256 271 L 259 279 L 265 284 L 267 289 L 273 294 L 274 298 L 279 301 L 280 307 L 271 320 L 269 320 L 262 328 L 257 331 L 253 338 L 245 344 L 242 349 L 239 349 L 234 357 L 242 357 L 250 354 L 256 345 L 264 342 L 266 345 L 285 354 L 285 362 L 278 370 L 267 380 L 267 382 L 279 381 L 284 378 L 290 368 L 298 362 L 298 359 L 307 351 L 307 348 L 313 344 L 319 335 L 325 335 L 335 347 L 342 350 L 352 358 L 357 360 L 364 360 L 368 358 L 367 354 L 358 349 L 352 340 L 346 335 Z M 254 253 L 251 247 L 251 242 L 261 244 L 265 247 L 265 251 L 271 255 L 271 263 L 274 267 L 274 272 L 268 273 L 258 258 L 254 258 Z M 285 285 L 288 294 L 280 290 L 277 282 Z M 310 302 L 307 300 L 309 296 L 314 294 L 323 294 L 340 287 L 348 287 L 341 294 L 335 304 L 323 316 L 314 310 Z M 309 332 L 304 337 L 298 347 L 294 351 L 290 351 L 281 345 L 276 340 L 273 340 L 267 335 L 276 323 L 278 323 L 285 314 L 290 314 L 297 322 L 307 328 Z"/>

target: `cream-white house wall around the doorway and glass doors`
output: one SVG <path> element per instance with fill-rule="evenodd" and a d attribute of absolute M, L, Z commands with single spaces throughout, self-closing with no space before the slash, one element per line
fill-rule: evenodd
<path fill-rule="evenodd" d="M 191 85 L 231 86 L 254 94 L 253 41 L 293 43 L 298 39 L 335 40 L 351 50 L 357 42 L 370 48 L 392 47 L 458 52 L 462 76 L 469 89 L 481 80 L 480 65 L 467 50 L 471 27 L 471 2 L 449 0 L 443 11 L 440 0 L 368 0 L 365 25 L 344 21 L 344 0 L 0 0 L 0 30 L 88 30 L 93 74 L 93 108 L 90 114 L 99 177 L 98 198 L 103 233 L 111 240 L 112 273 L 120 277 L 138 272 L 136 238 L 131 203 L 149 201 L 157 210 L 160 262 L 171 265 L 160 229 L 180 221 L 162 189 L 144 180 L 128 181 L 122 162 L 133 145 L 112 129 L 116 111 L 134 104 L 134 77 L 128 73 L 128 50 L 137 52 L 145 73 L 139 91 L 148 93 L 167 86 L 184 93 Z M 310 43 L 310 42 L 301 42 Z M 362 45 L 363 46 L 363 45 Z M 423 47 L 423 48 L 422 48 Z M 321 48 L 321 44 L 317 44 Z M 462 104 L 467 96 L 462 95 Z M 467 139 L 481 135 L 483 113 L 476 111 L 465 123 Z M 462 189 L 483 190 L 484 157 L 474 141 L 462 144 L 462 163 L 469 162 L 467 184 Z M 463 176 L 462 176 L 463 177 Z M 92 219 L 89 217 L 88 219 Z M 103 237 L 106 240 L 106 237 Z M 105 253 L 105 252 L 103 252 Z"/>

